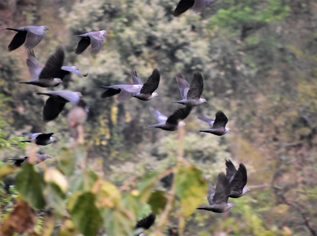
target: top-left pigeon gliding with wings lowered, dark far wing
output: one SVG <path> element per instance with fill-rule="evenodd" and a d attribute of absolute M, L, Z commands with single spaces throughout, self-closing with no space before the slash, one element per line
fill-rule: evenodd
<path fill-rule="evenodd" d="M 46 30 L 49 27 L 42 26 L 25 26 L 20 28 L 6 28 L 7 30 L 17 31 L 16 35 L 13 37 L 11 43 L 8 46 L 9 51 L 13 51 L 20 47 L 25 42 L 25 47 L 29 50 L 34 48 L 38 43 L 44 38 Z"/>

